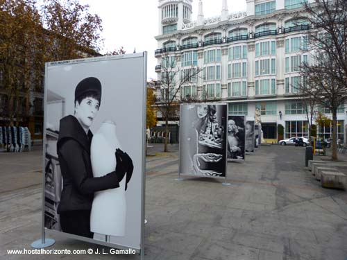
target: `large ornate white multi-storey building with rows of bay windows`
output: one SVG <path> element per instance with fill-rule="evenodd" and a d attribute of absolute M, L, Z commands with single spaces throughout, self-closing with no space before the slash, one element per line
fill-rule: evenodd
<path fill-rule="evenodd" d="M 307 136 L 307 116 L 298 97 L 301 62 L 310 62 L 302 0 L 246 0 L 244 12 L 228 12 L 221 1 L 221 15 L 205 18 L 203 1 L 192 21 L 192 0 L 159 0 L 159 34 L 155 71 L 158 80 L 165 66 L 164 57 L 174 60 L 184 73 L 202 68 L 198 77 L 184 85 L 177 98 L 228 103 L 229 114 L 245 114 L 254 120 L 255 108 L 262 114 L 264 139 L 276 141 L 277 125 L 285 127 L 285 138 Z M 179 80 L 180 75 L 176 75 Z M 159 81 L 160 82 L 160 81 Z M 157 101 L 164 92 L 157 86 Z M 317 111 L 330 116 L 324 107 Z M 338 114 L 339 139 L 346 143 L 347 114 Z M 320 133 L 330 135 L 331 128 Z"/>

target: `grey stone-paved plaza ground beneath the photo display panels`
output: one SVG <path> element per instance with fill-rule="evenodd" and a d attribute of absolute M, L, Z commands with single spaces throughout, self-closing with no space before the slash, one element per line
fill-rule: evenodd
<path fill-rule="evenodd" d="M 228 163 L 228 182 L 177 182 L 178 146 L 153 144 L 146 158 L 145 259 L 346 260 L 347 192 L 323 189 L 307 171 L 305 148 L 262 146 Z M 315 157 L 328 159 L 328 157 Z M 347 173 L 346 162 L 336 166 Z M 0 154 L 0 259 L 139 259 L 115 255 L 9 255 L 40 238 L 40 146 Z M 93 245 L 63 236 L 55 249 Z"/>

